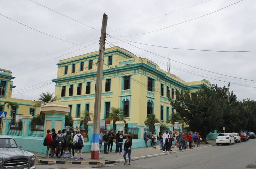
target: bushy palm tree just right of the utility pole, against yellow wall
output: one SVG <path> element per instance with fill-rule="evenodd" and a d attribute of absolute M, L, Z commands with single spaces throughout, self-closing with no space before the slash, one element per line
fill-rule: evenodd
<path fill-rule="evenodd" d="M 106 120 L 113 120 L 113 128 L 116 129 L 116 121 L 124 121 L 126 123 L 126 117 L 123 114 L 123 109 L 117 107 L 111 107 L 110 112 Z"/>

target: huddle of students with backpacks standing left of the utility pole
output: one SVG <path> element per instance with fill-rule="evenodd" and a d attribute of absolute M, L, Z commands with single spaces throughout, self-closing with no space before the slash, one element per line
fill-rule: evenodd
<path fill-rule="evenodd" d="M 79 160 L 83 160 L 81 149 L 84 146 L 84 137 L 80 134 L 80 131 L 70 132 L 63 129 L 56 133 L 54 128 L 52 130 L 48 129 L 44 145 L 47 146 L 46 158 L 62 158 L 64 160 L 74 158 L 74 160 L 78 160 L 77 152 L 79 152 Z M 49 150 L 51 150 L 50 155 Z M 67 156 L 68 151 L 69 156 Z"/>

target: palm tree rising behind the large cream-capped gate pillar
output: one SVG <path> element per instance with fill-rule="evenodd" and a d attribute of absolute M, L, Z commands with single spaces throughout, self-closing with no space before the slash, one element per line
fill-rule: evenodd
<path fill-rule="evenodd" d="M 57 96 L 54 96 L 53 93 L 49 92 L 42 92 L 41 94 L 39 94 L 39 96 L 40 98 L 38 99 L 38 101 L 36 101 L 35 106 L 43 106 L 46 105 L 46 103 L 51 103 L 58 100 Z M 41 121 L 44 121 L 44 116 L 45 114 L 41 112 Z"/>

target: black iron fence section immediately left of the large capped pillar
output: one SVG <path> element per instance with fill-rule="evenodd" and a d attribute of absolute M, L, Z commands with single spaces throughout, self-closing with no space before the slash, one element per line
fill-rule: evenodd
<path fill-rule="evenodd" d="M 44 136 L 44 122 L 30 121 L 28 136 L 43 137 Z"/>

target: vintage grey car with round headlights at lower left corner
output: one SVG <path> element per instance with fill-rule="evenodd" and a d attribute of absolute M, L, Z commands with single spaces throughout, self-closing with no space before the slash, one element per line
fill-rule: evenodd
<path fill-rule="evenodd" d="M 0 135 L 0 168 L 35 168 L 35 155 L 19 148 L 12 137 Z"/>

